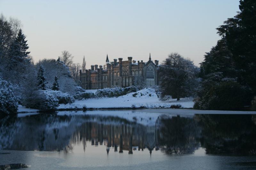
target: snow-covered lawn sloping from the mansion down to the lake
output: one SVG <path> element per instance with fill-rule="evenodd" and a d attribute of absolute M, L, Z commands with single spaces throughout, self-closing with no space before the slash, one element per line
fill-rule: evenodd
<path fill-rule="evenodd" d="M 86 90 L 86 92 L 89 92 Z M 91 91 L 94 92 L 94 91 Z M 133 95 L 137 93 L 134 97 Z M 124 96 L 113 98 L 99 98 L 88 100 L 76 100 L 71 104 L 61 104 L 58 109 L 69 108 L 127 108 L 127 107 L 146 107 L 146 108 L 158 108 L 158 107 L 170 107 L 171 105 L 180 104 L 183 108 L 191 108 L 194 105 L 192 98 L 182 98 L 180 101 L 176 99 L 170 99 L 161 101 L 157 98 L 154 89 L 142 89 L 138 92 L 132 92 Z"/>

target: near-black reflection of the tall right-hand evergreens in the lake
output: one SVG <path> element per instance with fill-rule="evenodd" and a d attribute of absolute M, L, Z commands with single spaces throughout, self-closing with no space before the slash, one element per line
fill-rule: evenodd
<path fill-rule="evenodd" d="M 256 155 L 255 115 L 195 115 L 209 154 Z"/>

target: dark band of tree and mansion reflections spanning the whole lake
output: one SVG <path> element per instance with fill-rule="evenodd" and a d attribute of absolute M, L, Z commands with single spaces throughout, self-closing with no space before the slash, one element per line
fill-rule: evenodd
<path fill-rule="evenodd" d="M 255 155 L 255 115 L 194 115 L 158 117 L 147 126 L 100 115 L 40 114 L 0 120 L 0 148 L 72 152 L 74 145 L 105 145 L 106 152 L 145 148 L 170 154 L 193 153 L 198 147 L 211 154 Z"/>

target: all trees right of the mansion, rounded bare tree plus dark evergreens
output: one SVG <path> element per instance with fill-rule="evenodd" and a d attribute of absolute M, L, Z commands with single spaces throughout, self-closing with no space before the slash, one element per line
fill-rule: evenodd
<path fill-rule="evenodd" d="M 172 53 L 160 67 L 162 97 L 194 96 L 196 109 L 256 110 L 256 1 L 217 28 L 221 39 L 204 55 L 200 69 Z"/>

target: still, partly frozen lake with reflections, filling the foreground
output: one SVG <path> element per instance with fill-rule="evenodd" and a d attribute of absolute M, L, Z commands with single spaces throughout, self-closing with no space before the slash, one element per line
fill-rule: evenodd
<path fill-rule="evenodd" d="M 0 119 L 0 165 L 28 170 L 256 169 L 255 155 L 250 114 L 112 110 Z"/>

